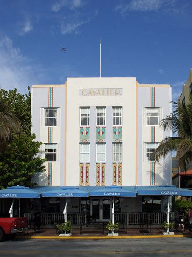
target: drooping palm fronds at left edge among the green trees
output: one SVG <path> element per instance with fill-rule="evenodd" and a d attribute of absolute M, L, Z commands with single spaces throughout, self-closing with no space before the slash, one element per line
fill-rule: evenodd
<path fill-rule="evenodd" d="M 0 151 L 6 146 L 6 140 L 12 132 L 19 133 L 21 130 L 20 121 L 12 113 L 6 111 L 6 106 L 0 102 Z"/>

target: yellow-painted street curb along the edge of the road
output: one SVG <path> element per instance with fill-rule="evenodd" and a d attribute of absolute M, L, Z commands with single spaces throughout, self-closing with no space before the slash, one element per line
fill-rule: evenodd
<path fill-rule="evenodd" d="M 83 239 L 141 239 L 141 238 L 178 238 L 178 237 L 192 237 L 192 235 L 136 235 L 136 236 L 17 236 L 19 239 L 60 239 L 60 240 L 83 240 Z"/>

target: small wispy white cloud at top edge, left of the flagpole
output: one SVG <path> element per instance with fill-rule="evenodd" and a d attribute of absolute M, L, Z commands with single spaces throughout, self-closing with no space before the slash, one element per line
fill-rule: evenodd
<path fill-rule="evenodd" d="M 54 12 L 60 11 L 63 7 L 74 9 L 83 5 L 82 0 L 59 0 L 52 7 L 51 10 Z"/>

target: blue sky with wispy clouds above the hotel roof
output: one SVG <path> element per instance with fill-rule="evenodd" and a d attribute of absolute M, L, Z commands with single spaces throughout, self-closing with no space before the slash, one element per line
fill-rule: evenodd
<path fill-rule="evenodd" d="M 179 97 L 192 68 L 191 0 L 1 0 L 0 87 L 136 77 Z M 61 51 L 66 47 L 66 51 Z"/>

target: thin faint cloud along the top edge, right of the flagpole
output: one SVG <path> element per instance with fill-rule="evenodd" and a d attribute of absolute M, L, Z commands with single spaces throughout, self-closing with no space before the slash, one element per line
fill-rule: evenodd
<path fill-rule="evenodd" d="M 121 3 L 117 5 L 115 11 L 120 12 L 122 16 L 127 11 L 140 11 L 140 12 L 149 12 L 149 11 L 158 11 L 164 4 L 173 5 L 175 0 L 131 0 L 129 3 Z"/>

